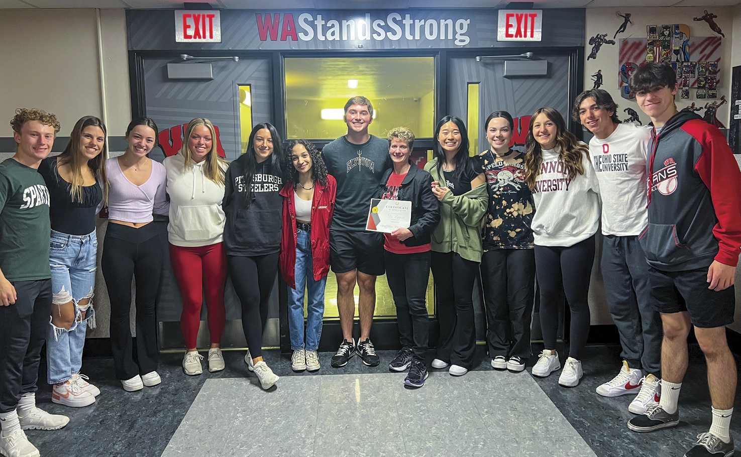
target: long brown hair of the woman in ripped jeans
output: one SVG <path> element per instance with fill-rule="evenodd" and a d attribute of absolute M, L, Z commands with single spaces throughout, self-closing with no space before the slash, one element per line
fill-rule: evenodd
<path fill-rule="evenodd" d="M 82 131 L 87 127 L 99 127 L 103 130 L 103 136 L 106 138 L 103 141 L 103 147 L 100 153 L 93 159 L 87 161 L 87 166 L 93 171 L 96 181 L 100 184 L 103 190 L 103 198 L 107 201 L 108 198 L 108 178 L 105 174 L 105 159 L 108 157 L 108 140 L 107 130 L 103 121 L 96 118 L 95 116 L 84 116 L 79 119 L 72 128 L 70 133 L 70 142 L 67 143 L 67 147 L 64 148 L 64 152 L 59 154 L 59 164 L 69 165 L 72 171 L 72 183 L 70 187 L 70 196 L 72 201 L 82 201 L 82 187 L 84 184 L 84 178 L 82 176 L 82 164 L 85 160 L 84 154 L 82 153 L 81 141 Z"/>

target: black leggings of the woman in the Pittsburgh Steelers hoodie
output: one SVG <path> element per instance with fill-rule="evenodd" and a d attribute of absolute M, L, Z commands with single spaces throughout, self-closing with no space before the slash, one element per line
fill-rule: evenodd
<path fill-rule="evenodd" d="M 268 298 L 278 273 L 279 253 L 227 256 L 229 277 L 242 303 L 242 330 L 252 358 L 262 357 L 262 332 L 268 323 Z"/>

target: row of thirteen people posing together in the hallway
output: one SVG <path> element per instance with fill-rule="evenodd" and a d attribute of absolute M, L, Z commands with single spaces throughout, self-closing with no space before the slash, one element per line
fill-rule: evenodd
<path fill-rule="evenodd" d="M 80 407 L 100 393 L 80 369 L 86 328 L 96 322 L 95 217 L 106 205 L 101 266 L 116 376 L 127 391 L 161 381 L 155 300 L 167 253 L 153 214 L 169 216 L 169 255 L 183 301 L 183 370 L 202 373 L 196 336 L 204 297 L 208 370 L 225 368 L 219 346 L 228 274 L 242 304 L 245 362 L 264 389 L 279 379 L 262 355 L 276 273 L 290 287 L 291 367 L 319 370 L 330 267 L 343 333 L 332 367 L 356 354 L 368 366 L 380 363 L 370 333 L 376 277 L 386 273 L 402 347 L 389 368 L 408 370 L 405 385 L 422 387 L 432 271 L 440 332 L 431 367 L 453 376 L 473 368 L 473 284 L 480 275 L 491 366 L 520 372 L 531 356 L 537 278 L 545 349 L 532 374 L 545 377 L 561 368 L 556 335 L 565 296 L 570 344 L 559 384 L 574 387 L 583 375 L 601 221 L 602 278 L 623 362 L 597 393 L 637 394 L 628 408 L 638 415 L 628 422 L 631 430 L 676 426 L 694 326 L 708 362 L 713 421 L 686 456 L 731 455 L 737 375 L 724 332 L 734 316 L 741 172 L 717 127 L 677 112 L 671 67 L 640 67 L 630 85 L 651 127 L 620 123 L 609 94 L 587 90 L 571 114 L 594 134 L 589 145 L 569 132 L 557 110 L 544 107 L 531 118 L 525 152 L 513 150 L 512 116 L 496 111 L 485 122 L 491 147 L 471 157 L 464 122 L 445 116 L 436 124 L 434 158 L 424 170 L 410 159 L 411 130 L 393 128 L 386 140 L 368 133 L 373 105 L 365 97 L 348 100 L 348 133 L 322 153 L 307 140 L 289 141 L 284 153 L 275 127 L 261 123 L 231 163 L 216 153 L 207 119 L 190 121 L 182 149 L 164 164 L 147 158 L 158 131 L 146 118 L 127 128 L 122 156 L 105 159 L 105 126 L 86 116 L 64 153 L 47 158 L 59 122 L 40 110 L 17 110 L 11 125 L 18 149 L 0 164 L 2 452 L 38 456 L 22 430 L 56 430 L 69 421 L 36 407 L 44 341 L 54 402 Z M 365 230 L 371 199 L 410 201 L 410 226 Z M 133 278 L 136 353 L 129 322 Z"/>

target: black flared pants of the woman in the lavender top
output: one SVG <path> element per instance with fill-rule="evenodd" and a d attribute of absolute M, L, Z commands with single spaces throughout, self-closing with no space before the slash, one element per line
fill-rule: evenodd
<path fill-rule="evenodd" d="M 109 223 L 101 267 L 110 298 L 110 346 L 116 377 L 157 370 L 155 305 L 162 276 L 162 240 L 153 223 L 134 228 Z M 136 359 L 130 330 L 131 281 L 136 278 Z"/>

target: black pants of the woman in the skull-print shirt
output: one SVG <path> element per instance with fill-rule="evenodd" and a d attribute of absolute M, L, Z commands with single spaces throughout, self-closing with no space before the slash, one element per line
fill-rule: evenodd
<path fill-rule="evenodd" d="M 530 352 L 535 303 L 535 253 L 532 249 L 493 249 L 481 259 L 489 356 L 519 357 Z"/>

